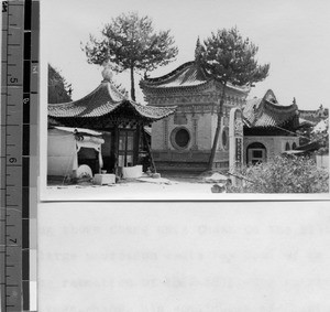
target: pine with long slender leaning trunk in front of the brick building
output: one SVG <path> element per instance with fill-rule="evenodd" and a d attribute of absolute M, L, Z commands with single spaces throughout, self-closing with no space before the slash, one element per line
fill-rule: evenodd
<path fill-rule="evenodd" d="M 228 84 L 252 86 L 267 77 L 270 64 L 257 64 L 258 47 L 250 42 L 249 37 L 243 39 L 237 28 L 219 30 L 205 40 L 204 44 L 205 47 L 199 49 L 199 62 L 208 74 L 222 84 L 217 130 L 209 162 L 209 169 L 212 169 Z"/>

